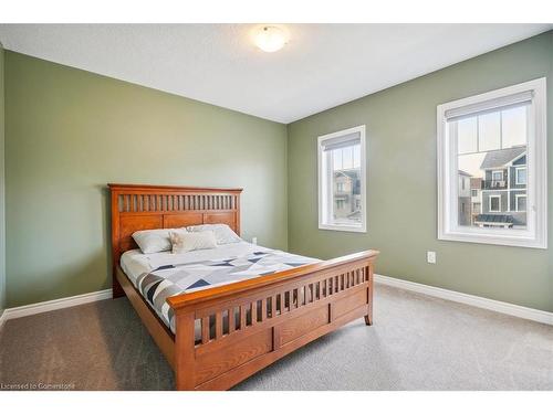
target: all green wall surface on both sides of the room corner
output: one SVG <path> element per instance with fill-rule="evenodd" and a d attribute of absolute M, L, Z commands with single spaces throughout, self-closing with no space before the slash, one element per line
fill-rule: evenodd
<path fill-rule="evenodd" d="M 108 288 L 105 183 L 135 182 L 243 187 L 243 233 L 261 244 L 322 258 L 374 247 L 377 273 L 553 311 L 551 248 L 436 238 L 438 104 L 547 76 L 553 164 L 553 32 L 288 128 L 9 51 L 4 61 L 9 307 Z M 320 231 L 316 137 L 361 124 L 368 231 Z"/>

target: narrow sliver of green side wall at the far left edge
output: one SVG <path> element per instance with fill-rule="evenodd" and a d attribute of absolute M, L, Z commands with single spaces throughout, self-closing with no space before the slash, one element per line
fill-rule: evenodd
<path fill-rule="evenodd" d="M 6 202 L 4 202 L 4 99 L 3 47 L 0 43 L 0 316 L 6 308 Z"/>

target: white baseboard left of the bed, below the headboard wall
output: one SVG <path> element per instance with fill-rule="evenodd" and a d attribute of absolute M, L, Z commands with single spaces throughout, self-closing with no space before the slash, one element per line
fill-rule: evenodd
<path fill-rule="evenodd" d="M 39 304 L 8 308 L 0 316 L 0 328 L 8 319 L 21 318 L 29 315 L 48 312 L 50 310 L 69 308 L 72 306 L 90 304 L 91 301 L 109 299 L 112 289 L 91 291 L 90 294 L 70 296 L 67 298 L 41 301 Z"/>

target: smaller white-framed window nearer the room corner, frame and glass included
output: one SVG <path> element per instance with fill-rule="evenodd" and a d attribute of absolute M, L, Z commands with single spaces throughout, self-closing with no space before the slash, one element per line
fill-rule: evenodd
<path fill-rule="evenodd" d="M 366 232 L 365 126 L 319 137 L 319 229 Z"/>

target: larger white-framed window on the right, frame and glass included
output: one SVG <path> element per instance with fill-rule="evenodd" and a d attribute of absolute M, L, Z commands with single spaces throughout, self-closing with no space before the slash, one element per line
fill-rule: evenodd
<path fill-rule="evenodd" d="M 438 238 L 547 247 L 545 95 L 540 78 L 438 106 Z"/>

